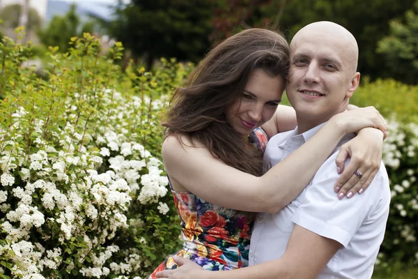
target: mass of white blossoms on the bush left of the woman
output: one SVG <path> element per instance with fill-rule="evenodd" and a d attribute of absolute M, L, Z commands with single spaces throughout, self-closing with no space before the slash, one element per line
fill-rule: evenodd
<path fill-rule="evenodd" d="M 64 262 L 70 271 L 76 265 L 69 255 L 75 251 L 86 266 L 79 273 L 88 278 L 132 278 L 132 273 L 150 266 L 135 248 L 124 251 L 123 262 L 111 262 L 121 251 L 105 244 L 111 243 L 118 230 L 127 228 L 132 202 L 157 203 L 167 194 L 162 163 L 139 143 L 144 139 L 132 133 L 132 121 L 126 121 L 141 118 L 141 98 L 125 97 L 104 91 L 102 103 L 112 108 L 109 114 L 105 110 L 92 116 L 97 123 L 108 121 L 95 130 L 81 130 L 77 125 L 80 106 L 73 98 L 65 100 L 66 122 L 54 126 L 47 140 L 43 137 L 47 119 L 30 122 L 31 115 L 22 107 L 13 114 L 8 134 L 0 130 L 0 140 L 8 147 L 0 150 L 0 210 L 4 213 L 0 223 L 9 243 L 0 246 L 0 256 L 13 262 L 14 274 L 44 278 L 49 274 L 46 270 L 62 269 Z M 158 109 L 165 102 L 157 101 L 152 107 Z M 138 123 L 157 130 L 157 120 L 150 116 Z M 18 144 L 26 136 L 20 134 L 22 123 L 33 125 L 33 149 Z M 168 213 L 167 204 L 157 205 L 160 214 Z M 144 221 L 134 219 L 134 224 L 141 227 Z"/>

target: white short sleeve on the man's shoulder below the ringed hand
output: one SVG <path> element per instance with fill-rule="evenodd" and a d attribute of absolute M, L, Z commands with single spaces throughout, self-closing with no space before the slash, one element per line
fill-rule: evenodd
<path fill-rule="evenodd" d="M 346 247 L 381 199 L 381 186 L 384 181 L 379 171 L 364 193 L 340 200 L 334 192 L 334 184 L 339 178 L 335 158 L 336 153 L 320 167 L 311 184 L 307 186 L 292 220 L 300 227 L 334 239 Z"/>

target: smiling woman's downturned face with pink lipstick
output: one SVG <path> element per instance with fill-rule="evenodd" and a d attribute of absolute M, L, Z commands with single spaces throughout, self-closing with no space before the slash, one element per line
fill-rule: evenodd
<path fill-rule="evenodd" d="M 249 79 L 241 98 L 226 109 L 226 119 L 238 133 L 249 135 L 252 130 L 269 121 L 284 91 L 284 78 L 272 77 L 265 70 L 256 69 Z"/>

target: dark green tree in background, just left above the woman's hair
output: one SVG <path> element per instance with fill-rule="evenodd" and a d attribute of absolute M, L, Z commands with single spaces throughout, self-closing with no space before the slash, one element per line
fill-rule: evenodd
<path fill-rule="evenodd" d="M 208 0 L 132 0 L 116 10 L 111 33 L 148 70 L 160 57 L 197 62 L 210 47 L 212 10 Z"/>

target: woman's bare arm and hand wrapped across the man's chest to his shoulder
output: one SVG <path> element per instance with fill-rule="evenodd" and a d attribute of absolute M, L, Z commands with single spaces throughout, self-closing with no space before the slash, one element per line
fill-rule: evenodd
<path fill-rule="evenodd" d="M 302 192 L 343 135 L 364 127 L 386 129 L 374 108 L 344 114 L 333 116 L 314 137 L 261 177 L 226 165 L 213 158 L 205 146 L 194 147 L 185 138 L 185 144 L 175 137 L 165 140 L 164 165 L 175 190 L 179 190 L 176 185 L 184 187 L 212 204 L 231 209 L 277 212 Z"/>

